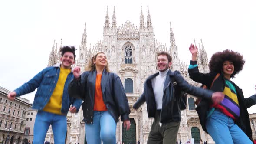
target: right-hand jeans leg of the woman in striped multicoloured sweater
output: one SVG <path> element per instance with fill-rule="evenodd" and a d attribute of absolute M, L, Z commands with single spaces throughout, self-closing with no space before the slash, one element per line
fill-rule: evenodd
<path fill-rule="evenodd" d="M 247 137 L 247 135 L 236 124 L 230 124 L 230 134 L 234 144 L 253 144 L 249 137 Z"/>

